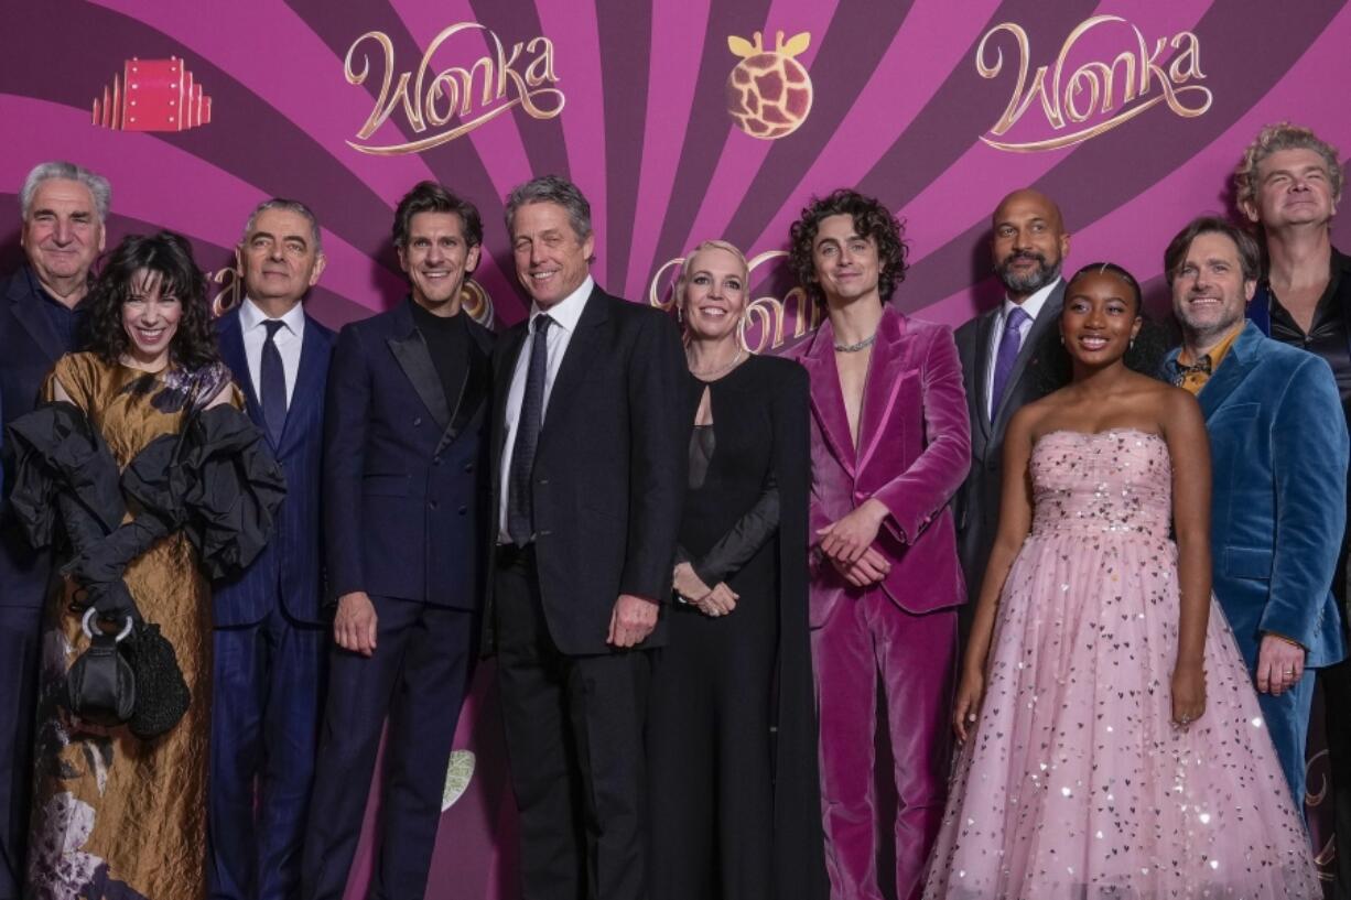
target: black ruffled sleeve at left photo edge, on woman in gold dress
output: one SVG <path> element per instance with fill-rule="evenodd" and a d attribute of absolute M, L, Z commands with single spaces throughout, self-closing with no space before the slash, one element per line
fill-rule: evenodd
<path fill-rule="evenodd" d="M 65 492 L 112 531 L 126 505 L 118 486 L 118 462 L 85 414 L 63 400 L 43 404 L 9 423 L 5 441 L 15 454 L 9 500 L 28 542 L 51 543 L 61 520 L 57 497 Z"/>

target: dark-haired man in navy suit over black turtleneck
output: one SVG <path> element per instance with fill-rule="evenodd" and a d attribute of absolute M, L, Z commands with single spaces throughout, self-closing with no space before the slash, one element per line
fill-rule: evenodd
<path fill-rule="evenodd" d="M 492 335 L 461 308 L 484 226 L 423 181 L 394 211 L 411 296 L 338 335 L 324 542 L 338 596 L 303 892 L 339 900 L 388 716 L 373 897 L 422 897 L 478 634 Z"/>

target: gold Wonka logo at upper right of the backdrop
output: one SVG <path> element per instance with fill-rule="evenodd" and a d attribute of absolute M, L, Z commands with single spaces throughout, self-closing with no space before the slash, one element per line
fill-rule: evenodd
<path fill-rule="evenodd" d="M 975 47 L 975 70 L 982 78 L 998 77 L 1004 70 L 1004 51 L 994 46 L 1002 35 L 1013 39 L 1019 70 L 1004 115 L 988 134 L 981 135 L 981 141 L 997 150 L 1034 153 L 1070 147 L 1111 131 L 1161 103 L 1183 119 L 1193 119 L 1205 115 L 1213 100 L 1209 88 L 1192 84 L 1204 81 L 1205 74 L 1201 72 L 1201 42 L 1190 31 L 1158 38 L 1151 45 L 1139 28 L 1120 16 L 1093 16 L 1065 39 L 1054 66 L 1039 66 L 1028 80 L 1032 46 L 1027 31 L 1005 22 L 986 31 Z M 993 62 L 989 54 L 992 47 Z M 1102 47 L 1113 47 L 1116 55 L 1108 50 L 1098 58 L 1070 68 L 1086 53 L 1101 51 Z M 1004 139 L 1004 134 L 1019 124 L 1034 103 L 1040 107 L 1046 124 L 1065 134 L 1032 141 Z M 1036 131 L 1036 127 L 1031 130 Z"/>

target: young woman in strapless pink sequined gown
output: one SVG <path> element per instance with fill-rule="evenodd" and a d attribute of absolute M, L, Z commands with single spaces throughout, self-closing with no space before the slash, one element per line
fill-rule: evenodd
<path fill-rule="evenodd" d="M 927 899 L 1321 896 L 1210 596 L 1205 423 L 1124 365 L 1140 324 L 1129 273 L 1079 270 L 1073 382 L 1009 423 Z"/>

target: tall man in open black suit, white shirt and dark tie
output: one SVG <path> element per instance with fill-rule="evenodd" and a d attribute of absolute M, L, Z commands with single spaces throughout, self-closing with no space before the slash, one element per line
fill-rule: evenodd
<path fill-rule="evenodd" d="M 530 316 L 497 345 L 499 655 L 527 900 L 647 896 L 647 650 L 665 642 L 685 485 L 674 323 L 590 277 L 590 204 L 547 176 L 507 199 Z"/>

